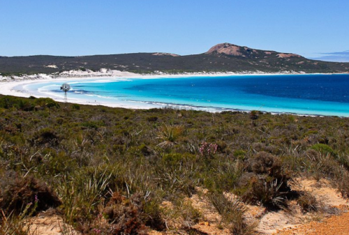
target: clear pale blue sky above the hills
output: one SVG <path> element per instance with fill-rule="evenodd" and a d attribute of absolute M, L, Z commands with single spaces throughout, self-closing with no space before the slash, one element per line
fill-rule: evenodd
<path fill-rule="evenodd" d="M 0 55 L 349 50 L 348 0 L 0 0 Z"/>

